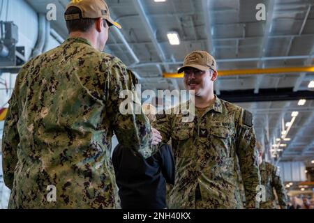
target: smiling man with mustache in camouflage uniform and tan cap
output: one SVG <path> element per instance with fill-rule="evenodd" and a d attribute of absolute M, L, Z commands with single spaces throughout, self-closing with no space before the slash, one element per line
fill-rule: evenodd
<path fill-rule="evenodd" d="M 158 114 L 154 123 L 163 143 L 172 139 L 176 180 L 170 208 L 243 208 L 237 157 L 246 208 L 257 208 L 260 171 L 252 114 L 214 95 L 218 72 L 207 52 L 188 54 L 178 72 L 184 72 L 186 89 L 195 91 L 195 118 L 184 122 L 186 115 L 177 114 L 179 105 L 171 114 Z M 194 105 L 187 102 L 183 107 L 189 106 Z"/>

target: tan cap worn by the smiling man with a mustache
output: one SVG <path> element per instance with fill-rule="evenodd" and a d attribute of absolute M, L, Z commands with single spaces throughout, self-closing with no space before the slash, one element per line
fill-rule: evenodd
<path fill-rule="evenodd" d="M 211 54 L 205 51 L 195 51 L 184 59 L 184 66 L 179 68 L 178 73 L 184 72 L 186 68 L 196 68 L 198 70 L 216 70 L 217 63 Z"/>

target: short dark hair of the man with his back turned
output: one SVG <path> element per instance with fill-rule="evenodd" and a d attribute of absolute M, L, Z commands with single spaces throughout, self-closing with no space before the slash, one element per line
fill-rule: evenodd
<path fill-rule="evenodd" d="M 95 24 L 96 19 L 82 19 L 82 12 L 80 8 L 77 7 L 70 7 L 66 10 L 65 15 L 71 15 L 71 14 L 80 14 L 79 20 L 68 20 L 66 21 L 66 27 L 68 28 L 68 32 L 74 32 L 74 31 L 81 31 L 81 32 L 87 32 L 91 27 Z M 103 25 L 106 26 L 107 22 L 104 22 Z"/>

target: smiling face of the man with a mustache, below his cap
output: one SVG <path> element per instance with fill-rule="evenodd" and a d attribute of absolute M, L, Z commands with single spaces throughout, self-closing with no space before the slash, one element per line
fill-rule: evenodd
<path fill-rule="evenodd" d="M 188 91 L 195 91 L 196 97 L 208 95 L 213 88 L 211 80 L 212 70 L 197 70 L 186 68 L 184 70 L 184 86 Z"/>

